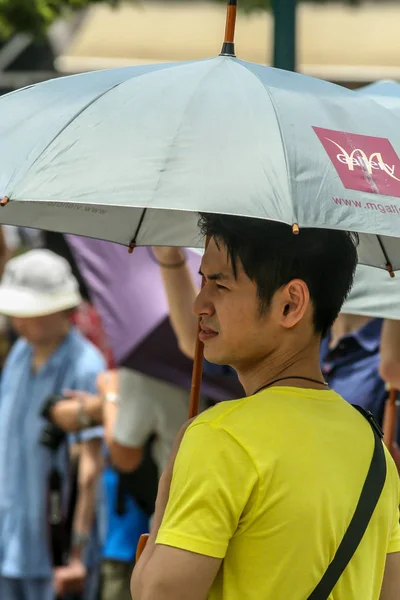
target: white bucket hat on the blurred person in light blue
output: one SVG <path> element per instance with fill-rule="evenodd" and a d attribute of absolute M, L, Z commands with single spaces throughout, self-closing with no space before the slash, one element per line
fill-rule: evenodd
<path fill-rule="evenodd" d="M 43 317 L 82 302 L 69 263 L 50 250 L 31 250 L 12 258 L 0 283 L 0 313 Z"/>

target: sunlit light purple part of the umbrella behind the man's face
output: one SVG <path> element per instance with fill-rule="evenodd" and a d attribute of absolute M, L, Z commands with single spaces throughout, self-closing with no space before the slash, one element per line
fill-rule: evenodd
<path fill-rule="evenodd" d="M 166 317 L 168 303 L 160 269 L 151 248 L 125 247 L 101 240 L 67 235 L 82 277 L 117 363 L 126 358 Z M 198 276 L 200 256 L 187 251 L 189 265 Z"/>

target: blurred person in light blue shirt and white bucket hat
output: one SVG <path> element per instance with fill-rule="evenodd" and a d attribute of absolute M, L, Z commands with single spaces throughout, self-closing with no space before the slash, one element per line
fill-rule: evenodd
<path fill-rule="evenodd" d="M 48 250 L 32 250 L 6 266 L 0 313 L 11 317 L 20 338 L 0 386 L 1 600 L 53 600 L 80 592 L 87 578 L 84 554 L 94 521 L 102 430 L 82 434 L 72 548 L 68 563 L 54 568 L 49 477 L 54 471 L 61 476 L 65 508 L 68 439 L 57 450 L 45 445 L 48 423 L 42 417 L 49 396 L 65 389 L 95 392 L 105 369 L 100 352 L 71 326 L 70 311 L 80 300 L 67 261 Z"/>

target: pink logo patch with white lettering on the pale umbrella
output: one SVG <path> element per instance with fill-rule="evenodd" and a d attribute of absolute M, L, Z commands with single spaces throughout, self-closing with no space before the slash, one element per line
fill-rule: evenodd
<path fill-rule="evenodd" d="M 400 198 L 400 159 L 388 139 L 313 129 L 346 189 Z"/>

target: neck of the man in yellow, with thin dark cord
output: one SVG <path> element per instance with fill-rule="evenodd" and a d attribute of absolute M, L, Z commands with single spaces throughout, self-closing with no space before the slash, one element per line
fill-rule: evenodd
<path fill-rule="evenodd" d="M 314 341 L 307 348 L 298 352 L 281 351 L 267 356 L 249 369 L 237 369 L 240 383 L 247 396 L 270 385 L 325 389 L 320 366 L 319 346 L 319 341 Z M 305 379 L 296 379 L 296 377 Z M 279 382 L 276 381 L 278 379 Z"/>

